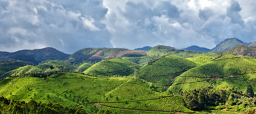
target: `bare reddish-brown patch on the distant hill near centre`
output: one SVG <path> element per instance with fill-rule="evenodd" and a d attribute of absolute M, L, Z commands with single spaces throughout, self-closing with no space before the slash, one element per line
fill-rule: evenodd
<path fill-rule="evenodd" d="M 111 56 L 100 56 L 100 53 L 103 50 L 98 51 L 96 54 L 94 54 L 93 56 L 89 57 L 89 59 L 103 59 L 103 58 L 114 58 L 114 57 L 121 57 L 124 54 L 128 54 L 128 53 L 141 53 L 141 54 L 147 54 L 148 51 L 144 51 L 144 50 L 123 50 L 123 51 L 118 51 L 117 53 L 111 55 Z"/>

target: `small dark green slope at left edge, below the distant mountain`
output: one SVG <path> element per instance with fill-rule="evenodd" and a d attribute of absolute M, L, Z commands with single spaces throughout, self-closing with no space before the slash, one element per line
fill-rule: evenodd
<path fill-rule="evenodd" d="M 6 72 L 9 72 L 21 66 L 27 66 L 27 65 L 32 65 L 32 63 L 24 62 L 21 60 L 14 60 L 14 59 L 0 60 L 0 76 L 5 74 Z"/>

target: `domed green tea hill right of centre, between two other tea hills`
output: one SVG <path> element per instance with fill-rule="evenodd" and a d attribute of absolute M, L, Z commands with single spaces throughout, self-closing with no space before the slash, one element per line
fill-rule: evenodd
<path fill-rule="evenodd" d="M 176 76 L 195 66 L 197 66 L 195 62 L 183 57 L 164 56 L 141 67 L 138 71 L 138 77 L 157 85 L 157 87 L 164 88 L 170 86 Z"/>

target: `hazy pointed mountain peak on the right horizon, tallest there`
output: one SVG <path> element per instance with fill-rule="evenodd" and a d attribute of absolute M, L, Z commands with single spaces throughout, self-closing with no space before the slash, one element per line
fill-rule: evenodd
<path fill-rule="evenodd" d="M 247 45 L 247 44 L 237 38 L 227 38 L 221 43 L 219 43 L 216 47 L 214 47 L 211 51 L 224 51 L 238 45 Z"/>

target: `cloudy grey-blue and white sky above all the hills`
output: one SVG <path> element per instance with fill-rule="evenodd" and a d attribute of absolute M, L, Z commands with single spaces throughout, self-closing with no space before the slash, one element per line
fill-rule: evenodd
<path fill-rule="evenodd" d="M 0 51 L 256 41 L 255 0 L 0 0 Z"/>

